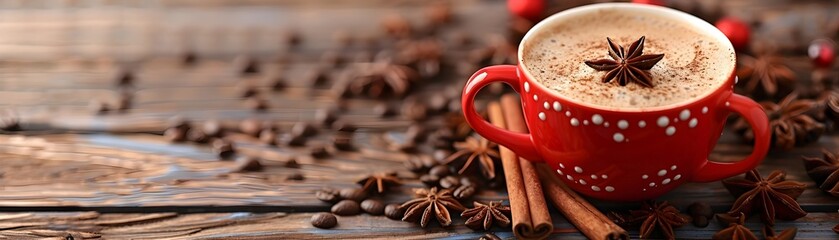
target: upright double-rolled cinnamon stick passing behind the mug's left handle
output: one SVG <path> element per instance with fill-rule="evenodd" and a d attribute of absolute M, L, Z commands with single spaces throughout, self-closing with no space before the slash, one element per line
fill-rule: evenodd
<path fill-rule="evenodd" d="M 505 117 L 497 102 L 489 104 L 489 119 L 495 126 L 505 128 Z M 518 158 L 505 147 L 499 147 L 501 164 L 507 183 L 507 195 L 513 215 L 513 233 L 520 239 L 544 239 L 553 232 L 548 206 L 532 164 Z"/>

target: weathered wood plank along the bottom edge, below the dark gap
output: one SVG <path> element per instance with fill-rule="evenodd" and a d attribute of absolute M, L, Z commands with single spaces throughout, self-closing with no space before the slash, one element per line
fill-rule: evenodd
<path fill-rule="evenodd" d="M 204 214 L 100 214 L 96 212 L 5 213 L 0 214 L 0 238 L 30 239 L 65 237 L 76 239 L 476 239 L 484 232 L 474 232 L 455 218 L 448 228 L 431 225 L 427 229 L 415 223 L 394 221 L 382 216 L 338 217 L 334 229 L 312 227 L 314 213 L 204 213 Z M 555 230 L 550 239 L 585 239 L 562 216 L 554 215 Z M 830 228 L 839 223 L 838 213 L 810 213 L 795 222 L 778 222 L 775 229 L 798 228 L 796 239 L 835 238 Z M 746 226 L 760 236 L 756 218 Z M 708 239 L 724 226 L 712 223 L 706 228 L 687 225 L 676 229 L 679 239 Z M 494 228 L 504 239 L 513 237 L 509 229 Z M 631 236 L 638 232 L 632 230 Z"/>

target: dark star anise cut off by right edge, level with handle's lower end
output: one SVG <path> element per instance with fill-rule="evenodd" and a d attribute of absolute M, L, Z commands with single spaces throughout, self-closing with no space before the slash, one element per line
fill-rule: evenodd
<path fill-rule="evenodd" d="M 802 156 L 804 168 L 821 190 L 839 197 L 839 159 L 826 149 L 822 153 L 823 158 Z"/>

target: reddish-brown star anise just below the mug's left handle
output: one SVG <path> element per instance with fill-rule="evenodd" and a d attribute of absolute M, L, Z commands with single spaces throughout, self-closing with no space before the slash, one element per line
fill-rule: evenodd
<path fill-rule="evenodd" d="M 472 163 L 477 159 L 481 163 L 481 173 L 487 179 L 495 178 L 495 160 L 500 157 L 498 150 L 495 149 L 496 144 L 486 140 L 485 138 L 468 137 L 463 142 L 456 142 L 454 144 L 457 152 L 453 153 L 444 160 L 444 164 L 452 164 L 455 160 L 466 157 L 466 162 L 458 171 L 458 174 L 463 174 L 472 166 Z"/>

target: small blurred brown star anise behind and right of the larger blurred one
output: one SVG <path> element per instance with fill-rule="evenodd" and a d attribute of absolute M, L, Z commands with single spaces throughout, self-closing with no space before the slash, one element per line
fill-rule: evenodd
<path fill-rule="evenodd" d="M 410 41 L 404 43 L 401 49 L 400 62 L 414 67 L 421 77 L 435 77 L 440 73 L 443 46 L 439 41 Z"/>

